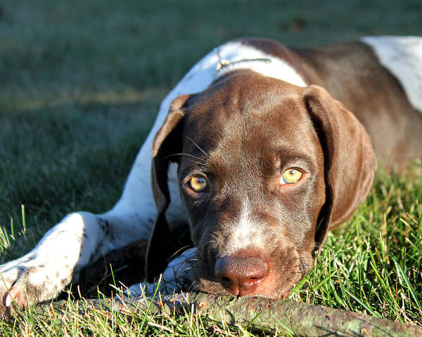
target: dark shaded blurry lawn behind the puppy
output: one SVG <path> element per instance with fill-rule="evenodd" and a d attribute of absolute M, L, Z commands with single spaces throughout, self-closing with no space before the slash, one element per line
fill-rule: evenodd
<path fill-rule="evenodd" d="M 215 46 L 375 34 L 422 35 L 422 1 L 0 0 L 0 236 L 26 233 L 0 262 L 113 206 L 160 100 Z"/>

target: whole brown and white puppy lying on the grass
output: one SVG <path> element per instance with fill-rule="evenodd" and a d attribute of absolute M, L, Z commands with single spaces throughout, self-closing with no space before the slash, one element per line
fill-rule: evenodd
<path fill-rule="evenodd" d="M 366 197 L 373 150 L 387 169 L 421 155 L 421 112 L 420 38 L 224 44 L 162 102 L 113 209 L 66 216 L 0 267 L 0 310 L 25 305 L 25 292 L 53 298 L 101 254 L 149 237 L 151 280 L 180 223 L 191 225 L 196 289 L 284 296 Z"/>

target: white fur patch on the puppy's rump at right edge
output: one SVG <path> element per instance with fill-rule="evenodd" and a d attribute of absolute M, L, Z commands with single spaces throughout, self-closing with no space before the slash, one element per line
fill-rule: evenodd
<path fill-rule="evenodd" d="M 422 112 L 422 38 L 364 37 L 381 64 L 400 81 L 411 105 Z"/>

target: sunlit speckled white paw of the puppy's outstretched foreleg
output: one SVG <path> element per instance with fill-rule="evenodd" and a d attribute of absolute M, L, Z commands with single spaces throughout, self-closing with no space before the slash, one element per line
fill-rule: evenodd
<path fill-rule="evenodd" d="M 70 282 L 51 266 L 13 262 L 0 266 L 0 317 L 54 298 Z"/>

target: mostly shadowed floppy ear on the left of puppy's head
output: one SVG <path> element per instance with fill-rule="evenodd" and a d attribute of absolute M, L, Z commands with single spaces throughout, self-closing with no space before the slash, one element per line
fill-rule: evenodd
<path fill-rule="evenodd" d="M 153 161 L 151 166 L 151 183 L 157 217 L 146 250 L 145 275 L 148 282 L 167 267 L 168 260 L 174 253 L 174 246 L 167 225 L 165 211 L 170 204 L 170 192 L 167 185 L 167 171 L 171 154 L 181 152 L 181 128 L 184 103 L 189 95 L 175 98 L 170 105 L 169 113 L 153 141 Z"/>

